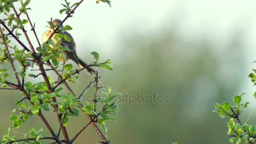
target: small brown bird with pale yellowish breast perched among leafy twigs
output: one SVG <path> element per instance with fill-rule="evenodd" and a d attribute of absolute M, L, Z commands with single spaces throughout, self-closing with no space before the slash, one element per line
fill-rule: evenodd
<path fill-rule="evenodd" d="M 53 20 L 53 24 L 54 25 L 60 25 L 61 24 L 61 20 L 59 19 L 54 19 Z M 61 26 L 62 27 L 62 26 Z M 50 37 L 50 35 L 53 33 L 53 28 L 50 27 L 50 29 L 48 29 L 43 35 L 42 35 L 42 41 L 43 43 L 47 42 L 48 38 Z M 61 53 L 63 53 L 65 59 L 64 62 L 66 62 L 67 60 L 71 59 L 72 61 L 75 61 L 75 63 L 83 68 L 83 67 L 87 67 L 88 64 L 86 64 L 85 61 L 83 61 L 80 57 L 77 56 L 77 52 L 75 50 L 75 41 L 73 39 L 73 37 L 66 31 L 62 31 L 62 34 L 66 35 L 67 37 L 69 37 L 70 41 L 68 42 L 67 40 L 65 40 L 64 38 L 61 39 L 60 41 L 60 45 L 61 46 L 67 46 L 69 48 L 69 51 L 61 51 Z M 54 34 L 55 35 L 55 34 Z M 54 37 L 54 35 L 51 37 L 51 40 L 53 40 L 54 43 L 57 43 L 58 40 L 56 40 L 56 38 Z M 92 75 L 93 73 L 96 73 L 95 70 L 91 67 L 88 67 L 85 69 L 88 74 Z"/>

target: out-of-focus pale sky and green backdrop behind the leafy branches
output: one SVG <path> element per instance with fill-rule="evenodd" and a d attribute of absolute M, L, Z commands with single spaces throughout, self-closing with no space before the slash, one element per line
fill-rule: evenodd
<path fill-rule="evenodd" d="M 37 35 L 48 29 L 46 21 L 51 17 L 64 19 L 65 14 L 59 14 L 61 3 L 64 1 L 31 2 L 29 15 Z M 93 61 L 92 51 L 100 54 L 99 61 L 112 61 L 114 71 L 100 69 L 101 84 L 111 86 L 113 93 L 136 95 L 139 91 L 143 96 L 170 96 L 168 103 L 119 103 L 117 121 L 107 124 L 111 143 L 227 144 L 227 119 L 221 120 L 213 113 L 213 105 L 232 102 L 233 96 L 240 93 L 246 93 L 243 102 L 250 102 L 241 119 L 245 122 L 250 117 L 249 123 L 254 124 L 255 88 L 248 78 L 256 67 L 252 63 L 256 61 L 254 5 L 253 0 L 112 0 L 109 8 L 85 0 L 65 24 L 73 27 L 69 32 L 78 55 L 85 61 Z M 92 76 L 81 73 L 78 84 L 70 85 L 80 94 L 92 80 Z M 4 90 L 0 95 L 4 101 L 0 105 L 2 136 L 12 124 L 8 118 L 16 107 L 14 101 L 21 96 Z M 57 130 L 56 115 L 45 114 Z M 87 122 L 83 115 L 71 118 L 67 126 L 70 135 Z M 49 134 L 35 116 L 12 131 L 22 136 L 34 127 L 43 127 L 44 134 Z M 76 144 L 97 141 L 101 139 L 90 126 Z"/>

